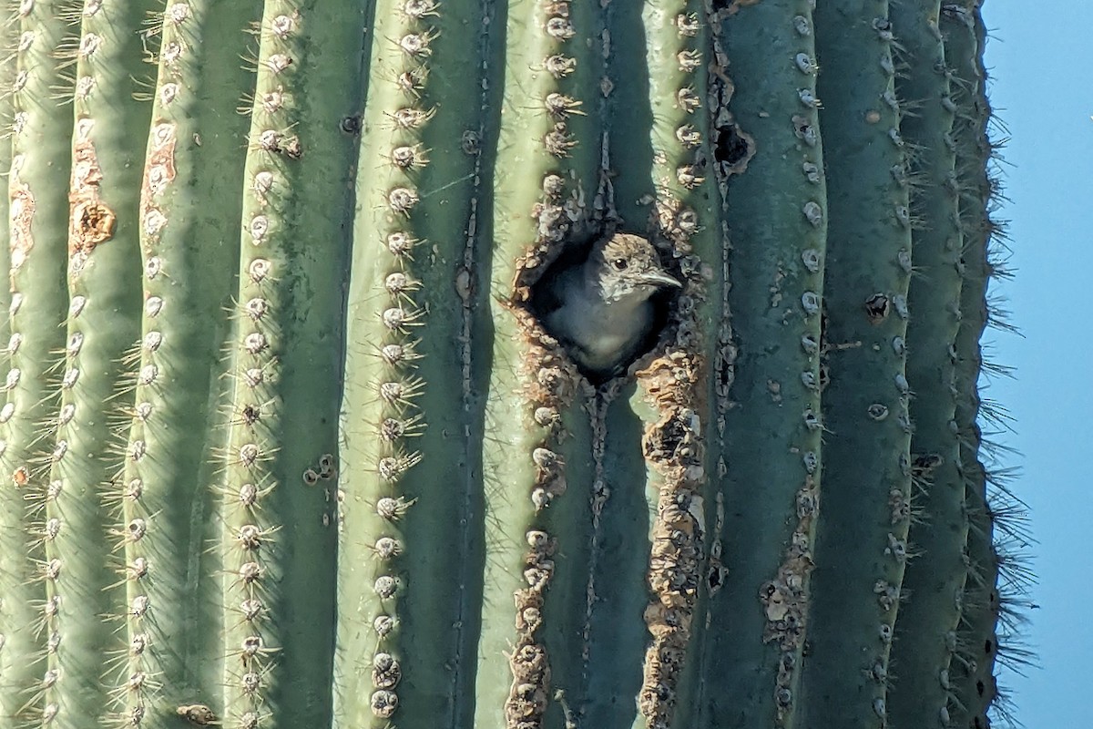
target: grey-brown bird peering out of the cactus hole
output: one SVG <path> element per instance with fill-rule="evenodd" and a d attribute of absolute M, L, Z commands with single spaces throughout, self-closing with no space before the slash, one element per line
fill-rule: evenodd
<path fill-rule="evenodd" d="M 638 353 L 656 322 L 654 294 L 683 286 L 631 233 L 600 238 L 585 261 L 543 283 L 540 320 L 593 381 L 622 374 Z"/>

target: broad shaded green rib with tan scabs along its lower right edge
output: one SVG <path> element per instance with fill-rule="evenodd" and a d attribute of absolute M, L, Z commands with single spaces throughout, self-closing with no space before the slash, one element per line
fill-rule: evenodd
<path fill-rule="evenodd" d="M 825 385 L 818 308 L 827 225 L 824 156 L 818 110 L 801 101 L 802 93 L 816 93 L 812 27 L 808 2 L 760 3 L 722 24 L 730 71 L 748 79 L 769 69 L 780 94 L 739 85 L 728 108 L 747 128 L 722 132 L 740 144 L 721 164 L 737 173 L 726 198 L 737 331 L 730 392 L 745 404 L 724 415 L 720 549 L 733 579 L 710 600 L 707 721 L 742 710 L 762 717 L 760 724 L 791 727 L 801 710 L 822 461 L 822 431 L 802 414 L 821 412 Z M 753 138 L 765 145 L 752 146 Z M 748 457 L 771 442 L 780 457 Z M 755 514 L 784 516 L 774 529 Z"/>

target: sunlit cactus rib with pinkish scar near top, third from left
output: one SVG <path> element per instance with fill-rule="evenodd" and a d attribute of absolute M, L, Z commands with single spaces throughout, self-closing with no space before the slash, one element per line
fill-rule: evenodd
<path fill-rule="evenodd" d="M 188 146 L 186 130 L 191 125 L 200 128 L 197 115 L 188 111 L 200 91 L 196 68 L 205 12 L 203 3 L 179 0 L 162 12 L 149 13 L 144 48 L 157 51 L 158 78 L 151 94 L 134 94 L 152 108 L 151 124 L 145 127 L 140 199 L 132 205 L 140 237 L 141 333 L 126 360 L 134 399 L 119 428 L 124 465 L 113 480 L 110 495 L 120 510 L 116 531 L 122 543 L 126 631 L 124 645 L 111 660 L 120 677 L 109 678 L 120 704 L 114 720 L 126 727 L 155 726 L 176 712 L 207 719 L 215 716 L 204 704 L 186 701 L 196 696 L 186 685 L 188 669 L 179 646 L 190 644 L 185 626 L 195 602 L 177 597 L 186 588 L 191 566 L 190 550 L 180 550 L 178 544 L 192 538 L 189 499 L 203 502 L 199 495 L 203 490 L 193 484 L 207 474 L 198 463 L 208 454 L 193 452 L 189 440 L 205 444 L 211 439 L 179 424 L 190 413 L 196 422 L 207 418 L 209 379 L 208 373 L 204 378 L 198 374 L 208 363 L 195 357 L 200 349 L 192 345 L 188 324 L 199 315 L 192 310 L 189 292 L 195 282 L 181 242 L 193 223 L 186 215 L 185 192 L 176 181 L 178 155 L 185 155 Z M 94 89 L 94 84 L 84 85 Z M 184 166 L 188 171 L 188 163 Z M 215 279 L 201 279 L 197 285 L 211 280 Z M 195 358 L 187 362 L 187 357 Z M 204 389 L 193 387 L 195 378 Z"/>

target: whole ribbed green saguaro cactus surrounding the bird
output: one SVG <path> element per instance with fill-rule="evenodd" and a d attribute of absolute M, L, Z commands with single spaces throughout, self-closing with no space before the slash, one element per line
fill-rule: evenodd
<path fill-rule="evenodd" d="M 0 729 L 998 715 L 974 0 L 0 4 Z"/>

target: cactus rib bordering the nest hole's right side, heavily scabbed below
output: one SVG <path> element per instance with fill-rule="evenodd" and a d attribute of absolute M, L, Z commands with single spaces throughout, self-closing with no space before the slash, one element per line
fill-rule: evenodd
<path fill-rule="evenodd" d="M 694 1 L 647 2 L 648 108 L 653 124 L 649 169 L 653 209 L 646 223 L 662 237 L 684 279 L 684 290 L 656 358 L 640 361 L 638 393 L 630 398 L 643 421 L 643 456 L 650 512 L 648 583 L 644 619 L 653 640 L 645 652 L 634 726 L 661 727 L 686 720 L 689 695 L 698 682 L 693 657 L 704 613 L 700 590 L 709 549 L 715 502 L 715 450 L 707 446 L 716 401 L 710 372 L 725 321 L 725 250 L 717 212 L 721 199 L 709 174 L 714 98 L 701 49 L 713 45 L 705 7 Z M 625 157 L 619 166 L 625 173 Z M 644 171 L 643 171 L 644 172 Z M 708 268 L 704 270 L 705 267 Z M 611 423 L 607 424 L 610 431 Z M 616 486 L 618 490 L 618 486 Z"/>

